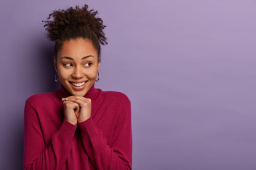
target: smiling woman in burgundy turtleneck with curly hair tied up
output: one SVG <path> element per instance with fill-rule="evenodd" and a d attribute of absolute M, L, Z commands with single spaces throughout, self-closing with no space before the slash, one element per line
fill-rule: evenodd
<path fill-rule="evenodd" d="M 43 21 L 61 89 L 26 101 L 24 169 L 132 169 L 129 99 L 94 87 L 107 44 L 96 14 L 76 6 Z"/>

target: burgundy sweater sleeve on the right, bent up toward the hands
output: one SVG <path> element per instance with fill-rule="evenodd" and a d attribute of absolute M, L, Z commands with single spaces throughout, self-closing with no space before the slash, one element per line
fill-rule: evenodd
<path fill-rule="evenodd" d="M 85 151 L 96 169 L 132 169 L 132 125 L 131 104 L 122 108 L 116 125 L 111 147 L 92 118 L 79 123 L 82 143 Z"/>

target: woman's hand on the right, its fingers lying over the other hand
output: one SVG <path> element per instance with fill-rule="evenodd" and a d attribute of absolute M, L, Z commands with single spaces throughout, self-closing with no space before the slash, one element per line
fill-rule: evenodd
<path fill-rule="evenodd" d="M 65 101 L 77 103 L 79 106 L 78 113 L 75 114 L 78 118 L 78 123 L 84 122 L 91 116 L 92 101 L 90 98 L 84 98 L 82 96 L 69 96 L 65 98 Z"/>

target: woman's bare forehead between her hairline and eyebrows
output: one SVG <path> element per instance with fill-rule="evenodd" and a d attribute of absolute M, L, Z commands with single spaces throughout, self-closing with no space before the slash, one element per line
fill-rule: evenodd
<path fill-rule="evenodd" d="M 90 40 L 77 38 L 63 42 L 63 46 L 58 50 L 57 57 L 72 57 L 74 60 L 82 59 L 87 55 L 92 55 L 97 59 L 97 50 Z"/>

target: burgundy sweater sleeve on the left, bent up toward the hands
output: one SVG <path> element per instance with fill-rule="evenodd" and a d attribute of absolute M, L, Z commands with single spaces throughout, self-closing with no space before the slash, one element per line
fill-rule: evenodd
<path fill-rule="evenodd" d="M 26 101 L 23 169 L 63 169 L 72 147 L 76 127 L 77 125 L 63 120 L 60 129 L 53 134 L 51 144 L 46 148 L 36 110 Z"/>

